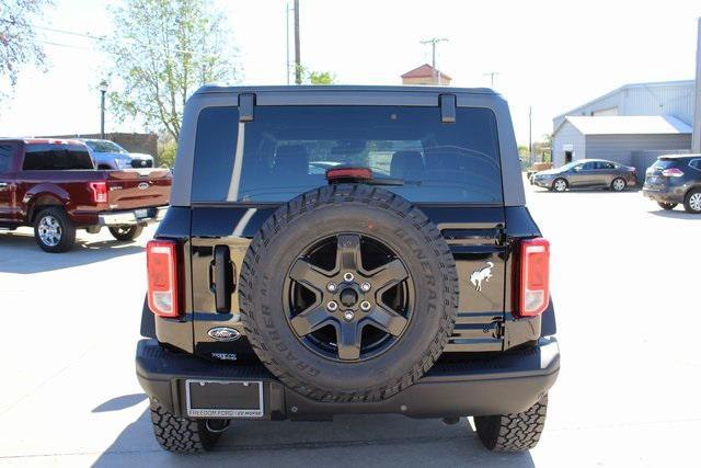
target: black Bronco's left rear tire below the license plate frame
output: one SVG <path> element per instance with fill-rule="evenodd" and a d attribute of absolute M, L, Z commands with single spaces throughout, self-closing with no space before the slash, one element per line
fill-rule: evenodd
<path fill-rule="evenodd" d="M 206 420 L 179 418 L 151 400 L 151 425 L 161 447 L 175 454 L 198 454 L 211 449 L 222 431 L 210 431 Z"/>

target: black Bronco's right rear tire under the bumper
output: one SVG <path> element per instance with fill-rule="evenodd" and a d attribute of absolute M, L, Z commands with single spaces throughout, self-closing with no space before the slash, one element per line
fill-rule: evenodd
<path fill-rule="evenodd" d="M 522 413 L 474 416 L 474 425 L 490 450 L 522 452 L 538 444 L 547 412 L 548 395 Z"/>

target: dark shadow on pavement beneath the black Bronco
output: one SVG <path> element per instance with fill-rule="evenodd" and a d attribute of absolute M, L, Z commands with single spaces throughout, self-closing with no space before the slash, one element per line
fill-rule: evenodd
<path fill-rule="evenodd" d="M 334 422 L 239 421 L 222 435 L 212 452 L 194 456 L 174 455 L 162 450 L 156 443 L 148 410 L 124 429 L 94 466 L 148 465 L 152 468 L 203 464 L 285 467 L 535 466 L 529 453 L 486 450 L 466 418 L 459 424 L 445 425 L 440 420 L 412 420 L 401 415 L 344 415 Z"/>

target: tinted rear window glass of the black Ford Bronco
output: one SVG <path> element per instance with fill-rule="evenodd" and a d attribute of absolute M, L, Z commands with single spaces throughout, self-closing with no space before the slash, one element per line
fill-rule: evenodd
<path fill-rule="evenodd" d="M 502 176 L 492 111 L 459 107 L 257 106 L 240 124 L 237 107 L 198 118 L 194 202 L 287 202 L 326 185 L 325 171 L 353 165 L 412 202 L 501 203 Z M 234 164 L 234 159 L 238 163 Z"/>

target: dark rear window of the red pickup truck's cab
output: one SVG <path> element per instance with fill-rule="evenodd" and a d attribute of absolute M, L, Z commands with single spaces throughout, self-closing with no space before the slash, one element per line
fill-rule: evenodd
<path fill-rule="evenodd" d="M 27 145 L 22 169 L 25 171 L 92 170 L 88 149 L 78 145 Z"/>

